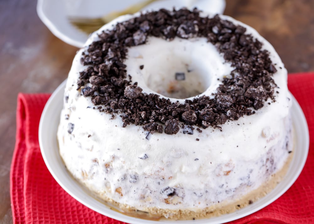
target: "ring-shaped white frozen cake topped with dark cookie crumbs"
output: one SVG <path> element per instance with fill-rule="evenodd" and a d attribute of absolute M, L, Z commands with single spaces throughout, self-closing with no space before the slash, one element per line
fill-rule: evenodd
<path fill-rule="evenodd" d="M 229 213 L 265 195 L 287 167 L 283 63 L 251 27 L 203 14 L 119 17 L 74 58 L 60 155 L 75 179 L 124 211 Z"/>

